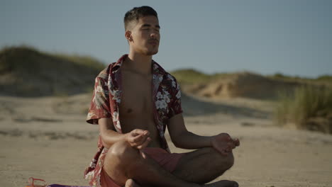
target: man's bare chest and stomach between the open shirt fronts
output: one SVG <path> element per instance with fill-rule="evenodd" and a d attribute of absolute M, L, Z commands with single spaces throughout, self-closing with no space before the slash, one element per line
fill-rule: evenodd
<path fill-rule="evenodd" d="M 161 147 L 153 118 L 152 75 L 121 69 L 122 95 L 120 121 L 123 133 L 134 129 L 148 130 L 152 141 L 148 147 Z"/>

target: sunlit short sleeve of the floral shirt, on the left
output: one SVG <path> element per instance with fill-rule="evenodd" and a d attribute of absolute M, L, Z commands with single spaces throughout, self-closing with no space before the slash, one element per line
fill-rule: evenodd
<path fill-rule="evenodd" d="M 94 94 L 87 114 L 87 123 L 97 125 L 99 118 L 111 118 L 109 87 L 102 77 L 96 77 L 95 79 Z"/>

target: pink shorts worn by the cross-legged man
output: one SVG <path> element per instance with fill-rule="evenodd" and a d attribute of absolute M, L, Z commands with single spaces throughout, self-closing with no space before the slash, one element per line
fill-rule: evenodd
<path fill-rule="evenodd" d="M 175 170 L 179 159 L 183 156 L 183 153 L 169 153 L 165 149 L 158 147 L 146 147 L 143 152 L 154 159 L 163 169 L 170 172 Z M 106 174 L 104 169 L 101 169 L 100 181 L 103 187 L 121 187 Z"/>

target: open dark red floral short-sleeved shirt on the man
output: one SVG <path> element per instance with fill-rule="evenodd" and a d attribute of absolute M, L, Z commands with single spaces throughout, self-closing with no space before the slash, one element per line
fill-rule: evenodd
<path fill-rule="evenodd" d="M 99 118 L 112 118 L 114 128 L 121 131 L 119 108 L 121 103 L 121 64 L 128 55 L 123 55 L 118 62 L 109 64 L 95 79 L 94 94 L 92 97 L 87 123 L 98 124 Z M 167 73 L 157 62 L 153 61 L 153 116 L 159 132 L 162 148 L 170 152 L 165 139 L 167 120 L 182 113 L 181 92 L 177 80 Z M 84 178 L 89 179 L 91 186 L 100 186 L 100 173 L 104 165 L 107 148 L 101 143 L 99 136 L 98 150 L 84 171 Z"/>

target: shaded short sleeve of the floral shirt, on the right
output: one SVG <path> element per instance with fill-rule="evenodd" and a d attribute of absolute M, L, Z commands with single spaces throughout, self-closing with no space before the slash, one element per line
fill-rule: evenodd
<path fill-rule="evenodd" d="M 182 106 L 181 106 L 181 89 L 177 80 L 174 79 L 172 81 L 172 103 L 170 106 L 170 111 L 168 113 L 168 118 L 172 118 L 173 116 L 182 113 Z"/>

